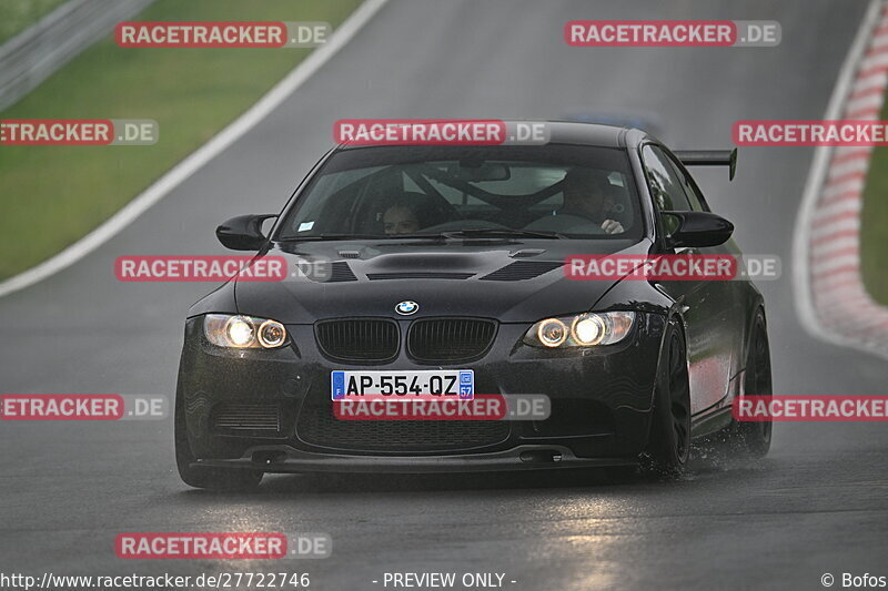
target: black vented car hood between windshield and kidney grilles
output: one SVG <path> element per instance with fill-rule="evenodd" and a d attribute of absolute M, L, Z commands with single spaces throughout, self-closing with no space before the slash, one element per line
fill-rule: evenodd
<path fill-rule="evenodd" d="M 616 282 L 565 277 L 576 254 L 645 254 L 649 241 L 466 241 L 446 243 L 280 243 L 264 256 L 286 259 L 280 282 L 235 282 L 238 312 L 284 324 L 344 316 L 477 316 L 536 322 L 588 310 Z M 309 272 L 305 276 L 304 272 Z M 395 312 L 412 300 L 411 316 Z"/>

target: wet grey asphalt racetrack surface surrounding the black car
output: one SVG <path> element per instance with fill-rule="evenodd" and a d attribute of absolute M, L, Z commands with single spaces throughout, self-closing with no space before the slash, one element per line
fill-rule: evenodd
<path fill-rule="evenodd" d="M 637 109 L 659 115 L 675 149 L 728 147 L 739 119 L 823 116 L 865 9 L 825 0 L 392 0 L 140 220 L 57 276 L 0 299 L 0 391 L 172 397 L 184 313 L 210 286 L 120 283 L 114 258 L 224 254 L 215 226 L 280 211 L 331 145 L 337 119 Z M 781 23 L 783 43 L 569 48 L 562 27 L 573 19 L 768 19 Z M 784 259 L 784 278 L 760 284 L 775 393 L 885 394 L 885 361 L 816 342 L 797 320 L 788 265 L 811 153 L 744 149 L 734 183 L 724 171 L 697 177 L 748 254 Z M 310 572 L 312 589 L 343 591 L 382 589 L 372 581 L 386 571 L 504 572 L 516 591 L 817 589 L 825 572 L 836 587 L 842 572 L 888 575 L 888 431 L 879 424 L 779 424 L 764 461 L 699 458 L 672 483 L 569 473 L 278 476 L 254 495 L 185 487 L 172 420 L 0 422 L 0 442 L 6 573 L 286 569 Z M 334 548 L 326 560 L 285 563 L 124 561 L 113 541 L 125 531 L 323 531 Z"/>

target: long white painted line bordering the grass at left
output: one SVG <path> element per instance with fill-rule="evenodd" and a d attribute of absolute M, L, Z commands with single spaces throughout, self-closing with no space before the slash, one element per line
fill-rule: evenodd
<path fill-rule="evenodd" d="M 29 287 L 47 277 L 69 267 L 108 242 L 140 215 L 158 203 L 170 191 L 179 186 L 204 164 L 218 156 L 222 151 L 238 141 L 260 121 L 274 111 L 296 89 L 304 84 L 336 52 L 370 22 L 374 14 L 387 0 L 364 0 L 355 11 L 345 19 L 330 40 L 311 52 L 286 77 L 266 92 L 253 106 L 232 122 L 228 128 L 214 135 L 209 142 L 189 154 L 183 161 L 170 169 L 151 186 L 135 196 L 119 212 L 109 217 L 102 225 L 68 246 L 59 254 L 42 263 L 0 283 L 0 297 Z"/>

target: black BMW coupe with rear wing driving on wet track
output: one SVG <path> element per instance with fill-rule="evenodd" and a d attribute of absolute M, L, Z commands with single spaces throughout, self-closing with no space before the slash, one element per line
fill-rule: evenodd
<path fill-rule="evenodd" d="M 739 255 L 685 169 L 730 164 L 733 176 L 734 157 L 676 155 L 636 129 L 545 124 L 545 145 L 340 145 L 280 215 L 219 226 L 225 246 L 284 257 L 293 273 L 234 278 L 191 307 L 175 403 L 182 479 L 243 488 L 264 472 L 639 460 L 677 473 L 702 436 L 766 454 L 770 424 L 730 412 L 738 396 L 770 394 L 751 283 L 565 273 L 573 255 Z M 333 412 L 343 379 L 376 395 L 453 395 L 456 375 L 470 393 L 546 395 L 548 418 Z"/>

